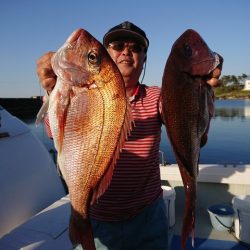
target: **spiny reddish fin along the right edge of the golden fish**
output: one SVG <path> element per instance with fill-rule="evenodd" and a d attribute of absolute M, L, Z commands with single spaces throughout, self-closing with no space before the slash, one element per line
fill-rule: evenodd
<path fill-rule="evenodd" d="M 111 162 L 109 164 L 109 167 L 107 168 L 107 171 L 104 173 L 103 177 L 101 178 L 99 184 L 97 187 L 93 190 L 93 195 L 91 199 L 91 205 L 96 202 L 96 200 L 106 191 L 108 188 L 112 176 L 113 176 L 113 171 L 114 167 L 116 164 L 116 161 L 119 159 L 120 152 L 125 144 L 125 141 L 128 138 L 128 135 L 130 135 L 130 132 L 132 130 L 132 127 L 134 125 L 134 121 L 132 118 L 132 112 L 131 112 L 131 107 L 129 101 L 127 101 L 127 110 L 125 113 L 124 117 L 124 122 L 123 126 L 121 128 L 120 136 L 119 136 L 119 141 L 117 143 L 117 147 L 114 150 L 113 157 L 111 159 Z"/>

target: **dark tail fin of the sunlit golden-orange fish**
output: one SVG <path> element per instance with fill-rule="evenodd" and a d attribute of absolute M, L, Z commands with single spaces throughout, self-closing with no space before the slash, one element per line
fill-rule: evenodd
<path fill-rule="evenodd" d="M 85 250 L 96 250 L 90 220 L 74 212 L 70 217 L 69 238 L 73 245 L 81 244 Z"/>

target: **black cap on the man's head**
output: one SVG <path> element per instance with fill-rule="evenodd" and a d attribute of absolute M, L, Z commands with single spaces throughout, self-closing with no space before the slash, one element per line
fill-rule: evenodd
<path fill-rule="evenodd" d="M 145 49 L 147 50 L 149 41 L 146 33 L 142 29 L 128 21 L 123 22 L 110 29 L 103 37 L 103 44 L 107 48 L 109 43 L 113 41 L 119 41 L 129 38 L 139 42 L 140 44 L 145 46 Z"/>

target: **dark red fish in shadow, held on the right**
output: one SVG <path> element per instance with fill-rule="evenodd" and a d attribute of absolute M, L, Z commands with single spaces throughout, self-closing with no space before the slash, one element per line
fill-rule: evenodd
<path fill-rule="evenodd" d="M 190 232 L 194 246 L 195 203 L 200 148 L 206 144 L 222 57 L 194 30 L 173 44 L 162 78 L 162 111 L 185 190 L 181 249 Z M 208 82 L 210 85 L 208 85 Z"/>

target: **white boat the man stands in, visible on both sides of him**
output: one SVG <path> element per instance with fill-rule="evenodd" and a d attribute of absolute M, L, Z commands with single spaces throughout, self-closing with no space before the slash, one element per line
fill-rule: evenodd
<path fill-rule="evenodd" d="M 72 249 L 68 238 L 70 202 L 50 154 L 22 121 L 2 108 L 0 117 L 0 249 Z M 162 185 L 168 187 L 164 193 L 173 236 L 171 249 L 177 250 L 183 184 L 176 164 L 161 165 L 160 170 Z M 249 180 L 250 165 L 200 165 L 195 249 L 249 249 L 234 232 L 214 228 L 207 211 L 211 205 L 231 204 L 238 195 L 250 195 Z"/>

